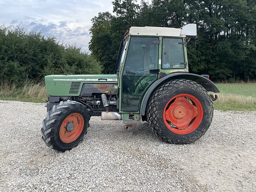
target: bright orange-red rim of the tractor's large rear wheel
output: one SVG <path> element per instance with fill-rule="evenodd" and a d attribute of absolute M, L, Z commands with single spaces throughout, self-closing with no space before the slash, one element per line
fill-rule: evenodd
<path fill-rule="evenodd" d="M 170 99 L 164 107 L 164 124 L 180 135 L 196 130 L 203 120 L 204 109 L 193 95 L 179 94 Z"/>

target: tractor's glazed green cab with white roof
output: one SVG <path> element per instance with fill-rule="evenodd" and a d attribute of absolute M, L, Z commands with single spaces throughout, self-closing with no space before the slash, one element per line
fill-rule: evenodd
<path fill-rule="evenodd" d="M 122 87 L 122 112 L 139 112 L 142 97 L 158 78 L 173 72 L 188 72 L 186 44 L 192 36 L 196 36 L 195 24 L 185 29 L 131 27 L 127 30 L 115 68 Z"/>

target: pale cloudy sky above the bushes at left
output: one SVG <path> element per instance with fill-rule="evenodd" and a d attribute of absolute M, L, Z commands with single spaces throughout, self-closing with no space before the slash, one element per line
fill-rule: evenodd
<path fill-rule="evenodd" d="M 64 43 L 88 50 L 91 19 L 99 12 L 113 12 L 113 0 L 0 0 L 0 25 L 43 31 Z"/>

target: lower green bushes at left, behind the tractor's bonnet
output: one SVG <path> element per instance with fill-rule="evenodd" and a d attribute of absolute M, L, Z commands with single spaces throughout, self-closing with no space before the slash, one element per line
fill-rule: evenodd
<path fill-rule="evenodd" d="M 63 44 L 41 32 L 0 26 L 0 82 L 40 81 L 52 74 L 98 74 L 100 63 L 76 44 Z"/>

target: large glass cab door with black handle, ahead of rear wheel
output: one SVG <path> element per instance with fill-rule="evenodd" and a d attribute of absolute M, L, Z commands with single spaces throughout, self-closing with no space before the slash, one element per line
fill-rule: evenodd
<path fill-rule="evenodd" d="M 158 50 L 158 37 L 131 37 L 122 73 L 121 111 L 139 111 L 144 93 L 157 78 L 149 70 L 158 68 Z"/>

